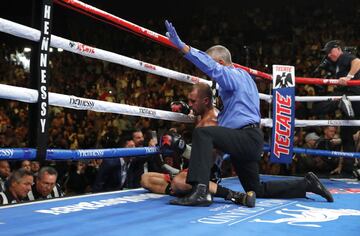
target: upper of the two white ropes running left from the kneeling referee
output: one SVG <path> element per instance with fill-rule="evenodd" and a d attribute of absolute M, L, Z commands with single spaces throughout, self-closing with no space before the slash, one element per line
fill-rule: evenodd
<path fill-rule="evenodd" d="M 3 18 L 0 18 L 0 31 L 20 38 L 29 39 L 31 41 L 38 42 L 40 40 L 39 30 Z M 99 48 L 90 47 L 79 42 L 74 42 L 68 39 L 58 37 L 56 35 L 51 35 L 50 45 L 52 47 L 62 48 L 66 51 L 80 54 L 82 56 L 113 62 L 136 70 L 146 71 L 151 74 L 160 75 L 166 78 L 171 78 L 191 84 L 203 82 L 212 86 L 212 81 L 209 80 L 166 69 L 164 67 L 156 66 Z"/>

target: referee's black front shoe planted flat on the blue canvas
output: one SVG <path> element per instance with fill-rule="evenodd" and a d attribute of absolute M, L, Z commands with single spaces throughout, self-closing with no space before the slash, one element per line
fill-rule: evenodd
<path fill-rule="evenodd" d="M 181 206 L 210 206 L 213 202 L 208 186 L 197 184 L 193 186 L 192 192 L 185 197 L 175 198 L 170 201 L 171 205 Z"/>

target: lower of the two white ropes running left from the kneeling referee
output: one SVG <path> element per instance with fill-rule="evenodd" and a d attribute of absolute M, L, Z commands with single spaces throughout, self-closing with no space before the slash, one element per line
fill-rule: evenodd
<path fill-rule="evenodd" d="M 34 89 L 0 84 L 0 98 L 27 103 L 36 103 L 38 100 L 38 91 Z M 108 112 L 114 114 L 141 116 L 184 123 L 194 122 L 193 116 L 187 116 L 177 112 L 130 106 L 125 104 L 80 98 L 76 96 L 69 96 L 58 93 L 49 93 L 49 104 L 53 106 L 67 107 L 76 110 Z"/>

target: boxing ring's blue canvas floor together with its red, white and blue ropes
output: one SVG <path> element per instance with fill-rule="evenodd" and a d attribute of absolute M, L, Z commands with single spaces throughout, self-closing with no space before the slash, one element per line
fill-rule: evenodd
<path fill-rule="evenodd" d="M 56 0 L 55 3 L 67 6 L 81 13 L 91 12 L 94 18 L 131 28 L 136 34 L 150 38 L 173 47 L 169 40 L 131 22 L 126 22 L 79 1 Z M 88 13 L 90 14 L 90 13 Z M 121 28 L 120 27 L 120 28 Z M 40 32 L 6 19 L 0 18 L 2 32 L 39 41 Z M 106 60 L 147 73 L 156 74 L 186 83 L 211 82 L 192 75 L 183 74 L 151 63 L 135 60 L 106 50 L 87 46 L 55 35 L 51 36 L 50 45 L 83 56 Z M 271 79 L 271 76 L 250 68 L 236 65 L 254 76 Z M 309 83 L 308 78 L 296 78 L 297 83 Z M 337 84 L 337 80 L 311 79 L 313 84 Z M 349 85 L 358 85 L 350 81 Z M 38 91 L 9 85 L 0 85 L 0 97 L 27 103 L 38 102 Z M 272 96 L 260 94 L 267 102 Z M 297 101 L 327 101 L 339 97 L 296 97 Z M 360 96 L 349 97 L 359 101 Z M 92 104 L 84 106 L 84 104 Z M 49 105 L 78 110 L 91 110 L 114 114 L 134 115 L 152 119 L 191 123 L 194 117 L 184 114 L 162 111 L 146 107 L 80 98 L 71 95 L 49 93 Z M 272 119 L 264 118 L 261 123 L 272 127 Z M 360 126 L 359 120 L 295 120 L 297 127 L 305 126 Z M 269 151 L 264 147 L 264 151 Z M 82 160 L 96 158 L 113 158 L 141 156 L 159 153 L 158 147 L 61 150 L 48 149 L 47 160 Z M 333 152 L 294 148 L 294 153 L 307 153 L 323 156 L 344 156 L 359 158 L 360 153 Z M 36 159 L 36 150 L 32 148 L 2 149 L 4 159 Z M 261 176 L 262 180 L 273 180 L 281 176 Z M 257 199 L 255 208 L 246 208 L 229 204 L 222 199 L 215 199 L 210 207 L 181 207 L 169 205 L 172 198 L 167 195 L 149 193 L 144 189 L 89 194 L 75 197 L 64 197 L 46 201 L 29 202 L 0 207 L 0 232 L 4 235 L 79 235 L 102 234 L 118 235 L 192 235 L 224 234 L 264 235 L 276 232 L 277 235 L 303 235 L 306 233 L 339 235 L 357 235 L 360 231 L 360 183 L 354 179 L 322 179 L 334 196 L 334 203 L 327 203 L 317 195 L 308 195 L 309 199 Z M 222 184 L 234 190 L 242 190 L 237 178 L 224 179 Z M 339 226 L 343 227 L 339 227 Z"/>

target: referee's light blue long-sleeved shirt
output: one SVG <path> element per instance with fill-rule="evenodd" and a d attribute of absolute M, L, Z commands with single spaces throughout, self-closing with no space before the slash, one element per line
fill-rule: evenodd
<path fill-rule="evenodd" d="M 205 52 L 191 47 L 185 58 L 219 85 L 219 95 L 224 105 L 218 116 L 219 126 L 237 129 L 260 123 L 259 92 L 249 73 L 220 65 Z"/>

